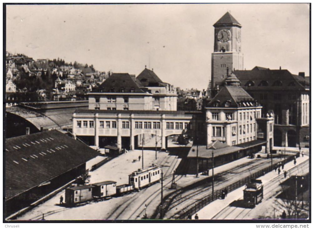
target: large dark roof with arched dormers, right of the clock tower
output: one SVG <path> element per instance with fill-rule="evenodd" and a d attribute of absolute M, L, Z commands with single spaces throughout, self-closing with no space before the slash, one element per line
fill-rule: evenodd
<path fill-rule="evenodd" d="M 261 70 L 260 67 L 255 67 L 252 70 L 236 70 L 233 73 L 241 81 L 242 87 L 246 87 L 249 81 L 253 82 L 254 86 L 251 87 L 258 87 L 258 89 L 274 87 L 282 90 L 300 90 L 309 87 L 309 81 L 306 77 L 293 75 L 288 70 L 270 70 L 264 68 Z M 268 86 L 259 86 L 262 81 L 266 82 Z M 281 83 L 282 86 L 275 86 L 275 82 Z M 289 86 L 293 84 L 295 86 Z"/>

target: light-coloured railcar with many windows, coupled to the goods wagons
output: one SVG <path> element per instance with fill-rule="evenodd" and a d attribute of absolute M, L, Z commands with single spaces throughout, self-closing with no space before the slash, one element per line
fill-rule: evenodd
<path fill-rule="evenodd" d="M 133 184 L 135 189 L 139 189 L 160 181 L 161 169 L 157 166 L 150 166 L 143 170 L 138 169 L 129 175 L 129 184 Z"/>

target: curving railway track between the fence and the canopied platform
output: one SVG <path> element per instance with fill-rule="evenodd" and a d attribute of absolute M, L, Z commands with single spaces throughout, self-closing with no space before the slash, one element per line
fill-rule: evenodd
<path fill-rule="evenodd" d="M 214 177 L 216 180 L 215 186 L 217 187 L 218 185 L 221 185 L 222 183 L 230 182 L 232 179 L 239 176 L 239 174 L 244 171 L 256 170 L 257 168 L 269 163 L 268 160 L 263 160 L 263 162 L 261 163 L 262 160 L 263 159 L 254 160 L 253 162 L 247 162 L 245 164 L 233 167 L 230 170 L 216 174 Z M 249 165 L 251 166 L 248 167 Z M 228 177 L 226 177 L 227 175 Z M 221 179 L 224 177 L 225 179 Z M 218 180 L 217 178 L 220 180 Z M 211 182 L 211 180 L 208 182 Z M 208 192 L 212 188 L 211 183 L 208 184 L 208 182 L 200 184 L 198 187 L 193 187 L 190 190 L 181 190 L 181 191 L 179 190 L 178 192 L 172 193 L 170 196 L 168 196 L 167 199 L 170 199 L 169 202 L 171 202 L 171 204 L 169 204 L 168 202 L 168 205 L 165 207 L 165 211 L 166 211 L 165 217 L 172 218 L 174 215 L 176 215 L 179 210 L 175 208 L 179 206 L 180 204 L 181 205 L 184 204 L 184 206 L 180 206 L 180 208 L 183 209 L 186 205 L 189 205 L 189 202 L 193 202 L 195 198 L 202 198 L 203 197 L 202 195 L 208 195 Z M 183 193 L 186 193 L 186 195 L 182 195 Z M 171 213 L 173 209 L 175 209 L 176 212 Z"/>

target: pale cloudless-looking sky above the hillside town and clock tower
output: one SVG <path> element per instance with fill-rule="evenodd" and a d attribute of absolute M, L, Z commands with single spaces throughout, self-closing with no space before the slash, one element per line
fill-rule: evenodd
<path fill-rule="evenodd" d="M 309 75 L 309 5 L 7 5 L 6 49 L 138 75 L 147 65 L 175 87 L 206 89 L 214 23 L 229 11 L 241 28 L 244 68 Z"/>

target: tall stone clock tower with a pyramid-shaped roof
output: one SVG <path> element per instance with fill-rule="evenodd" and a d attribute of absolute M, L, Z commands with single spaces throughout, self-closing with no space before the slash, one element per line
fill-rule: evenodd
<path fill-rule="evenodd" d="M 210 80 L 211 96 L 214 96 L 221 82 L 233 70 L 243 70 L 241 24 L 227 12 L 214 24 L 214 31 L 214 53 L 212 53 Z"/>

